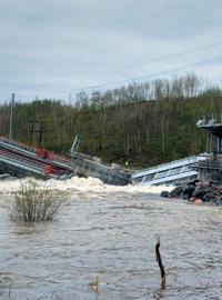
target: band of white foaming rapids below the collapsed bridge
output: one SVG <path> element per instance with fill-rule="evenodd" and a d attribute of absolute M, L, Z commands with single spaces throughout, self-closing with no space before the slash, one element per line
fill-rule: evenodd
<path fill-rule="evenodd" d="M 7 179 L 0 181 L 0 193 L 8 194 L 16 192 L 19 188 L 21 182 L 24 182 L 27 179 Z M 130 192 L 130 193 L 138 193 L 138 192 L 148 192 L 148 193 L 160 193 L 161 191 L 171 191 L 173 186 L 158 186 L 158 187 L 145 187 L 145 186 L 110 186 L 103 183 L 101 180 L 97 178 L 79 178 L 72 177 L 71 179 L 67 180 L 54 180 L 50 179 L 47 182 L 42 180 L 38 180 L 40 186 L 47 186 L 49 189 L 57 189 L 61 191 L 67 190 L 77 190 L 81 192 L 97 192 L 97 193 L 104 193 L 104 192 Z"/>

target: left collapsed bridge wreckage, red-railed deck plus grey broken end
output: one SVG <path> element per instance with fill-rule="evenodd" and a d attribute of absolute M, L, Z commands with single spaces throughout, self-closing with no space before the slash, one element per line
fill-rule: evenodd
<path fill-rule="evenodd" d="M 73 147 L 72 147 L 73 150 Z M 46 149 L 37 149 L 16 140 L 0 137 L 0 172 L 14 177 L 37 177 L 43 179 L 67 179 L 73 176 L 95 177 L 105 183 L 125 186 L 131 174 L 101 163 L 77 151 L 71 157 L 58 156 Z"/>

